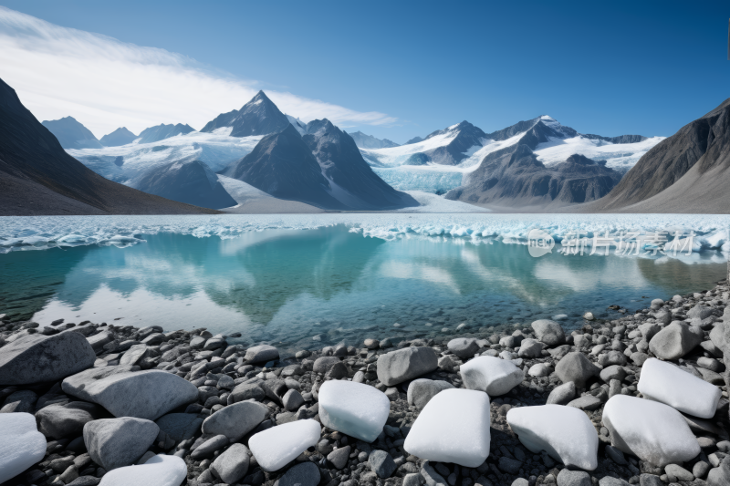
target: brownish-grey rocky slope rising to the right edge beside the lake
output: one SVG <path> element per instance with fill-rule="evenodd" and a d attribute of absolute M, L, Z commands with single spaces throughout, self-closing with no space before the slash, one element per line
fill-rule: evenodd
<path fill-rule="evenodd" d="M 649 150 L 587 212 L 730 212 L 730 98 Z"/>

